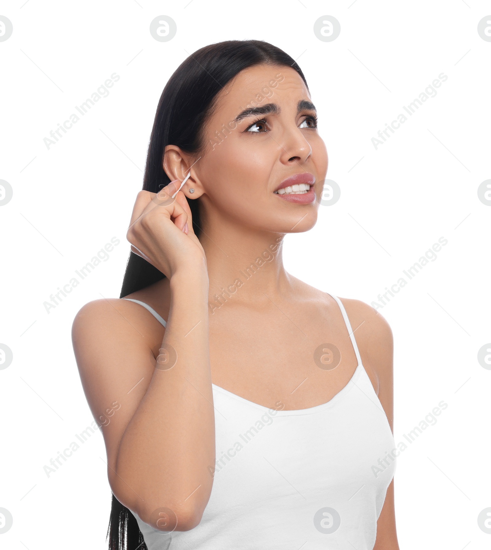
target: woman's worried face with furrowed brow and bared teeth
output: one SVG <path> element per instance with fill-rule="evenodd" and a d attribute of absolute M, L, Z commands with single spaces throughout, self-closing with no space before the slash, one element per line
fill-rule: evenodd
<path fill-rule="evenodd" d="M 205 141 L 194 170 L 207 226 L 217 216 L 274 233 L 316 223 L 327 151 L 294 69 L 264 64 L 239 73 L 219 93 Z"/>

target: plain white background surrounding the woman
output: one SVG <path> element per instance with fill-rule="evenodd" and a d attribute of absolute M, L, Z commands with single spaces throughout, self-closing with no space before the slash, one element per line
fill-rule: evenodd
<path fill-rule="evenodd" d="M 0 8 L 13 23 L 0 42 L 0 179 L 13 188 L 0 207 L 0 343 L 13 351 L 0 370 L 0 507 L 14 521 L 2 547 L 107 547 L 101 433 L 54 474 L 43 471 L 93 420 L 71 323 L 88 301 L 119 296 L 126 228 L 169 76 L 202 46 L 257 38 L 298 58 L 327 144 L 328 178 L 341 188 L 337 204 L 320 207 L 315 228 L 286 237 L 287 270 L 371 304 L 440 237 L 448 240 L 379 309 L 395 340 L 396 443 L 440 401 L 448 404 L 398 459 L 398 536 L 401 549 L 489 548 L 477 516 L 491 507 L 491 370 L 477 353 L 491 342 L 491 207 L 477 188 L 491 178 L 491 42 L 477 24 L 491 4 L 188 1 L 20 0 Z M 173 40 L 150 35 L 158 15 L 175 20 Z M 340 21 L 332 42 L 313 33 L 323 15 Z M 448 80 L 438 94 L 376 150 L 377 131 L 442 72 Z M 112 73 L 120 80 L 109 95 L 48 150 L 43 138 Z M 109 259 L 47 313 L 43 302 L 112 237 L 121 242 Z"/>

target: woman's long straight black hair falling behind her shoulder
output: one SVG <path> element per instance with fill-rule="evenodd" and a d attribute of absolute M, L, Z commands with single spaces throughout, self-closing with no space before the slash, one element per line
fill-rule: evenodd
<path fill-rule="evenodd" d="M 286 65 L 304 80 L 299 65 L 283 50 L 261 40 L 228 40 L 205 46 L 189 56 L 165 85 L 155 114 L 143 189 L 158 193 L 170 179 L 163 169 L 165 146 L 177 145 L 188 153 L 203 151 L 203 128 L 218 92 L 241 70 L 260 65 Z M 200 234 L 199 200 L 189 200 L 193 229 Z M 164 274 L 130 252 L 120 298 L 148 287 Z M 108 528 L 109 550 L 147 550 L 135 517 L 113 494 Z"/>

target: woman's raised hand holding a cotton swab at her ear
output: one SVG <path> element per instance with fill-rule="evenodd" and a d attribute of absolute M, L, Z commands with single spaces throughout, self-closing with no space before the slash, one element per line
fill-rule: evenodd
<path fill-rule="evenodd" d="M 191 210 L 180 181 L 158 193 L 140 191 L 136 197 L 126 239 L 131 251 L 150 262 L 167 278 L 176 272 L 206 270 L 206 256 L 192 228 Z"/>

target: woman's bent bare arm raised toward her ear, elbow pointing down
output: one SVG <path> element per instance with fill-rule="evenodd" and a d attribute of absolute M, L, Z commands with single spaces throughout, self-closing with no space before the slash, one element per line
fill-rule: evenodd
<path fill-rule="evenodd" d="M 189 530 L 208 502 L 213 482 L 208 467 L 215 461 L 208 276 L 204 254 L 194 254 L 186 241 L 190 236 L 171 221 L 179 215 L 178 205 L 165 208 L 170 209 L 172 228 L 165 216 L 157 223 L 147 219 L 148 228 L 157 228 L 153 241 L 129 239 L 161 271 L 169 272 L 170 311 L 161 348 L 175 349 L 175 365 L 168 368 L 156 361 L 148 334 L 163 329 L 129 301 L 98 300 L 82 307 L 74 321 L 73 343 L 93 415 L 100 417 L 114 401 L 120 404 L 102 428 L 115 496 L 153 527 L 162 528 L 156 524 L 157 510 L 167 508 L 177 518 L 176 530 Z M 160 236 L 168 247 L 163 252 L 157 243 L 162 227 L 176 232 Z M 156 260 L 161 253 L 170 257 L 167 265 Z"/>

